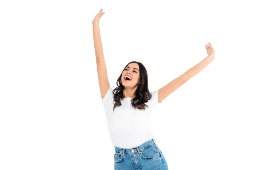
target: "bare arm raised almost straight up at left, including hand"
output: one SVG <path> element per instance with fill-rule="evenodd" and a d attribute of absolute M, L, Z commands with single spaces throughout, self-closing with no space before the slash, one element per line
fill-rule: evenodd
<path fill-rule="evenodd" d="M 103 48 L 102 48 L 102 42 L 100 37 L 100 31 L 99 31 L 99 19 L 103 16 L 103 14 L 105 14 L 105 12 L 102 13 L 102 9 L 101 9 L 99 11 L 99 14 L 96 15 L 96 17 L 92 22 L 93 41 L 94 41 L 94 49 L 95 49 L 98 79 L 99 79 L 99 89 L 100 89 L 100 95 L 102 99 L 106 95 L 109 88 L 107 67 L 106 67 L 106 63 L 103 55 Z"/>

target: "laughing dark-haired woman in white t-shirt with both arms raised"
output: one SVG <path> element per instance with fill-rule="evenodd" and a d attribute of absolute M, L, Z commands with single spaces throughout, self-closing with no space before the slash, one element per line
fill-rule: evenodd
<path fill-rule="evenodd" d="M 212 45 L 206 44 L 208 56 L 180 77 L 157 91 L 148 91 L 148 75 L 140 62 L 130 62 L 117 79 L 117 88 L 112 90 L 107 75 L 99 31 L 99 19 L 105 14 L 102 9 L 93 20 L 93 40 L 96 54 L 99 88 L 105 108 L 108 130 L 115 148 L 115 170 L 168 170 L 163 153 L 157 146 L 150 127 L 150 112 L 183 85 L 203 70 L 215 56 Z"/>

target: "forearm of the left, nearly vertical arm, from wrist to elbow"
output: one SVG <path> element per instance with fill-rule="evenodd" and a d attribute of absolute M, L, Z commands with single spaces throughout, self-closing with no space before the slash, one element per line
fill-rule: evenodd
<path fill-rule="evenodd" d="M 99 31 L 99 23 L 97 22 L 93 23 L 93 41 L 94 41 L 96 61 L 98 62 L 104 59 L 104 55 L 103 55 L 102 41 L 101 41 L 100 31 Z"/>

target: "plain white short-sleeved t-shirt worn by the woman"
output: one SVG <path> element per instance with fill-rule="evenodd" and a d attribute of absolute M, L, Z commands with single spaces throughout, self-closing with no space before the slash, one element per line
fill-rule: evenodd
<path fill-rule="evenodd" d="M 114 146 L 131 149 L 140 146 L 144 142 L 154 138 L 151 131 L 150 117 L 152 109 L 159 104 L 158 91 L 151 92 L 152 97 L 145 104 L 145 110 L 134 108 L 131 105 L 131 97 L 121 100 L 121 106 L 114 111 L 113 89 L 109 86 L 102 100 L 108 124 L 108 132 Z"/>

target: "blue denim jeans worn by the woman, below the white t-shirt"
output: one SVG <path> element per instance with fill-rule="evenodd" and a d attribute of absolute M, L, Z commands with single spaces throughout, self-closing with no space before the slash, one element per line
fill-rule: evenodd
<path fill-rule="evenodd" d="M 163 153 L 155 140 L 141 144 L 132 149 L 115 147 L 115 170 L 168 170 Z"/>

